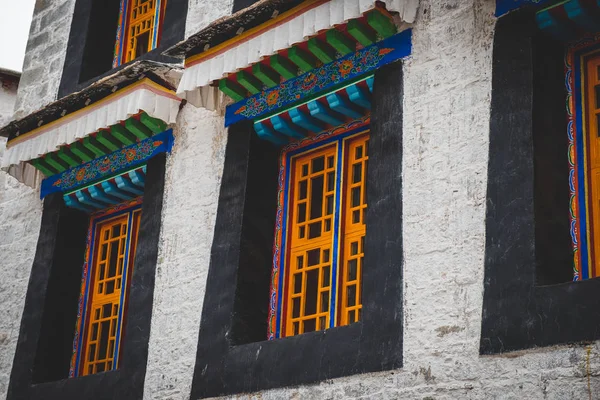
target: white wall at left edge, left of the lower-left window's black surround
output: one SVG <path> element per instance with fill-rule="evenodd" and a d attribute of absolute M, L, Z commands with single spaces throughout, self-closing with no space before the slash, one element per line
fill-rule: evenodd
<path fill-rule="evenodd" d="M 0 159 L 5 144 L 0 137 Z M 39 192 L 0 171 L 0 399 L 8 390 L 41 216 Z"/>

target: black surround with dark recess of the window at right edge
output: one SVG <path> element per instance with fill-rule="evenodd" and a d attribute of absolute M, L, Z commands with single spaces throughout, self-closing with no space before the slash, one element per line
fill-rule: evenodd
<path fill-rule="evenodd" d="M 498 20 L 481 354 L 600 338 L 600 280 L 565 282 L 573 253 L 562 56 L 533 13 Z"/>

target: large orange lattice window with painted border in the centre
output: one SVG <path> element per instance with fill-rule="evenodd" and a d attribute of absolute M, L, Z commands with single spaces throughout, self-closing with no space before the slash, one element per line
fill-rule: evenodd
<path fill-rule="evenodd" d="M 325 135 L 326 136 L 326 135 Z M 287 217 L 276 236 L 279 296 L 269 337 L 360 320 L 369 134 L 359 129 L 282 152 Z M 277 249 L 284 249 L 277 257 Z M 283 268 L 279 268 L 282 265 Z"/>

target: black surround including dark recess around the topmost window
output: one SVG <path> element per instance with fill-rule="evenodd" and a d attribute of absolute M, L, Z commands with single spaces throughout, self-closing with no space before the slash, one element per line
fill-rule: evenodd
<path fill-rule="evenodd" d="M 185 37 L 188 0 L 168 0 L 160 45 L 129 63 L 112 68 L 120 0 L 77 0 L 58 97 L 79 92 L 95 81 L 140 60 L 180 64 L 162 55 Z"/>

